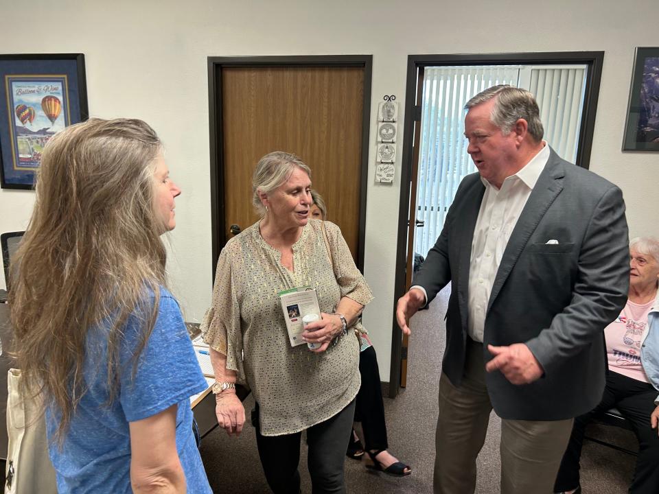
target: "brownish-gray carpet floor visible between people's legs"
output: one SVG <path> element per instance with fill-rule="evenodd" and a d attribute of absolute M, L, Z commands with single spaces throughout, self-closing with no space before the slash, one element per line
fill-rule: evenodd
<path fill-rule="evenodd" d="M 408 386 L 397 399 L 384 399 L 390 449 L 393 454 L 411 464 L 413 474 L 405 478 L 393 478 L 366 469 L 366 460 L 358 462 L 346 458 L 346 483 L 350 493 L 432 492 L 437 390 L 445 345 L 443 316 L 447 302 L 448 291 L 445 290 L 432 302 L 429 310 L 420 311 L 413 318 Z M 376 328 L 369 330 L 378 331 Z M 380 330 L 391 331 L 390 328 Z M 250 397 L 246 407 L 251 410 L 252 406 Z M 591 433 L 608 435 L 618 444 L 632 449 L 636 447 L 636 440 L 629 432 L 599 427 Z M 494 494 L 499 491 L 499 434 L 500 422 L 493 413 L 485 445 L 478 456 L 477 493 Z M 303 446 L 300 459 L 302 489 L 303 493 L 311 493 L 305 453 Z M 246 427 L 240 438 L 229 438 L 224 432 L 214 430 L 203 440 L 201 454 L 214 492 L 269 492 L 259 463 L 252 427 Z M 625 493 L 632 478 L 634 461 L 634 457 L 614 449 L 586 443 L 581 461 L 583 493 Z"/>

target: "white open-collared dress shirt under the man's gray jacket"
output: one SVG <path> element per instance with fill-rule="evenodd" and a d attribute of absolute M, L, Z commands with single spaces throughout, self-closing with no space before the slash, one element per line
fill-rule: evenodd
<path fill-rule="evenodd" d="M 500 189 L 481 178 L 485 195 L 472 239 L 467 318 L 467 334 L 477 342 L 483 342 L 485 313 L 503 252 L 548 159 L 549 146 L 544 143 L 544 148 L 506 178 Z"/>

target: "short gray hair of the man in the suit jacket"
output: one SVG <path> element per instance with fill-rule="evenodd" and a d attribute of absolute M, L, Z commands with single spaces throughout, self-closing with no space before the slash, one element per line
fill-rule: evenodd
<path fill-rule="evenodd" d="M 540 108 L 537 107 L 535 97 L 526 89 L 516 88 L 507 84 L 499 84 L 481 91 L 472 97 L 465 108 L 469 110 L 496 98 L 492 115 L 489 119 L 492 124 L 501 129 L 504 135 L 510 133 L 518 119 L 522 118 L 529 124 L 529 134 L 536 142 L 542 141 L 544 129 L 540 121 Z"/>

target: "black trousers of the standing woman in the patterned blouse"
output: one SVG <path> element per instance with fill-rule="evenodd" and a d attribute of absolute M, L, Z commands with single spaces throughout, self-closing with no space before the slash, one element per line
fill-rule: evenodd
<path fill-rule="evenodd" d="M 258 416 L 258 403 L 256 413 Z M 307 429 L 308 467 L 312 493 L 345 493 L 343 462 L 348 433 L 355 415 L 355 400 L 330 419 Z M 302 433 L 262 436 L 258 421 L 256 445 L 268 486 L 275 494 L 299 494 L 300 438 Z"/>

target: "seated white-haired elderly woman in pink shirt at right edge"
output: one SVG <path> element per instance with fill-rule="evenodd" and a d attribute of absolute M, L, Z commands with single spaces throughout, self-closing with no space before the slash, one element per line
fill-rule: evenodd
<path fill-rule="evenodd" d="M 595 412 L 617 408 L 638 438 L 638 460 L 629 492 L 659 493 L 659 239 L 629 242 L 629 298 L 605 329 L 609 372 L 601 403 L 575 419 L 554 491 L 581 493 L 583 434 Z"/>

